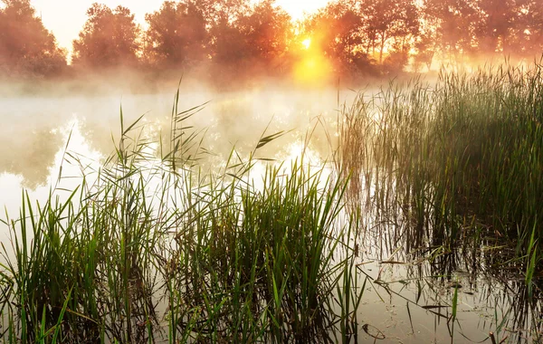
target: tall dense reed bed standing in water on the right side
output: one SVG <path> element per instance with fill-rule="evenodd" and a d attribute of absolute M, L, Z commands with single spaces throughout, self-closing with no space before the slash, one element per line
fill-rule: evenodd
<path fill-rule="evenodd" d="M 543 239 L 542 71 L 488 66 L 361 94 L 339 126 L 338 169 L 356 181 L 350 204 L 397 228 L 408 249 L 496 247 L 495 263 L 522 262 L 531 295 Z"/>

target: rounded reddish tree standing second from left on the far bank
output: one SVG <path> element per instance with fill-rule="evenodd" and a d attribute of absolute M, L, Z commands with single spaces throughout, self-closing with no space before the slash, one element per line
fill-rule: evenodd
<path fill-rule="evenodd" d="M 73 64 L 89 68 L 136 65 L 140 43 L 134 14 L 123 6 L 111 10 L 95 3 L 87 15 L 79 39 L 73 41 Z"/>

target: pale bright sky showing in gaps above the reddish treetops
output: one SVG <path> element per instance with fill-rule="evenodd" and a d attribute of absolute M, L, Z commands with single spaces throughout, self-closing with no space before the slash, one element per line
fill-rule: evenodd
<path fill-rule="evenodd" d="M 145 27 L 145 14 L 157 11 L 163 0 L 32 0 L 43 24 L 52 31 L 62 48 L 71 51 L 71 42 L 78 37 L 87 20 L 86 12 L 92 3 L 116 7 L 128 7 L 136 15 L 138 24 Z M 276 0 L 294 19 L 303 17 L 304 12 L 312 13 L 323 7 L 329 0 Z"/>

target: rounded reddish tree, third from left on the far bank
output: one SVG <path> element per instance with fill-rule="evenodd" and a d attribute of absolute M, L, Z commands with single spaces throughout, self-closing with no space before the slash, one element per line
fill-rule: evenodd
<path fill-rule="evenodd" d="M 209 34 L 205 13 L 196 2 L 166 1 L 159 11 L 146 14 L 146 21 L 144 54 L 151 62 L 179 67 L 205 59 Z"/>

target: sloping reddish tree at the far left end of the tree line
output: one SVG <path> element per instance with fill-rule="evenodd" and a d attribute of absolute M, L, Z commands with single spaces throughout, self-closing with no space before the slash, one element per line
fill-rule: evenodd
<path fill-rule="evenodd" d="M 66 67 L 66 52 L 35 15 L 30 0 L 2 0 L 0 72 L 53 76 Z"/>

